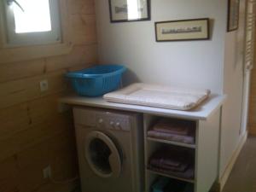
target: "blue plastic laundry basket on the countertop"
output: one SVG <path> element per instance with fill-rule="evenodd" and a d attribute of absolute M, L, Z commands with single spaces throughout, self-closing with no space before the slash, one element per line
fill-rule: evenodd
<path fill-rule="evenodd" d="M 99 65 L 67 73 L 66 77 L 80 96 L 102 96 L 119 88 L 124 72 L 120 65 Z"/>

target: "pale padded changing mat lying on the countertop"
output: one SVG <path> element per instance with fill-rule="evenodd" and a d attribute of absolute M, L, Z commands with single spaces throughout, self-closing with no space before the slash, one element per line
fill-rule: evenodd
<path fill-rule="evenodd" d="M 210 90 L 189 90 L 154 84 L 131 84 L 103 96 L 108 102 L 143 105 L 154 108 L 189 110 L 210 95 Z"/>

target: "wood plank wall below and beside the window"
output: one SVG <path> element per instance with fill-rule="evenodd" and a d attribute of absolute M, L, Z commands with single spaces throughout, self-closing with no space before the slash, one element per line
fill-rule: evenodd
<path fill-rule="evenodd" d="M 78 183 L 53 184 L 78 174 L 72 114 L 58 113 L 68 90 L 63 74 L 97 62 L 94 0 L 67 0 L 73 50 L 69 55 L 0 65 L 0 191 L 69 192 Z M 0 58 L 1 59 L 1 58 Z M 48 79 L 49 90 L 39 82 Z"/>

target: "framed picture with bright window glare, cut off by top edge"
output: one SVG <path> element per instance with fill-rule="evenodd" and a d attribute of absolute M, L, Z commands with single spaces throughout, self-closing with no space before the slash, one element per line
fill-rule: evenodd
<path fill-rule="evenodd" d="M 108 0 L 111 22 L 150 20 L 150 0 Z"/>

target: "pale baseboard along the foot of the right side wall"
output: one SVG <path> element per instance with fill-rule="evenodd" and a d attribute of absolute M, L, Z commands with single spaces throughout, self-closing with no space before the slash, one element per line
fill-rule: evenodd
<path fill-rule="evenodd" d="M 218 191 L 222 191 L 224 189 L 224 185 L 227 182 L 228 178 L 230 177 L 230 173 L 232 172 L 233 166 L 235 165 L 236 160 L 237 160 L 237 158 L 238 158 L 238 156 L 241 152 L 241 148 L 244 146 L 244 144 L 247 141 L 247 135 L 248 135 L 248 133 L 245 132 L 243 137 L 241 137 L 241 141 L 238 144 L 235 153 L 232 155 L 230 163 L 226 167 L 222 177 L 220 177 L 220 180 L 219 180 L 219 183 L 218 183 Z"/>

